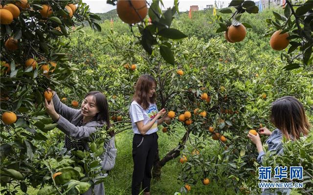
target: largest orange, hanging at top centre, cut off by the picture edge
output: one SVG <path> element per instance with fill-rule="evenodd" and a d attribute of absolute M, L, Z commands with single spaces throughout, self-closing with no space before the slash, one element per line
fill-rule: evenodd
<path fill-rule="evenodd" d="M 118 0 L 116 11 L 123 22 L 132 24 L 143 21 L 147 16 L 148 8 L 146 0 Z"/>

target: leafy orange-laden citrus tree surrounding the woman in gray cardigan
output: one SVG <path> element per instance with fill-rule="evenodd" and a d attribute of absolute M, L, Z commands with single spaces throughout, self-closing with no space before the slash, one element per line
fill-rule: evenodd
<path fill-rule="evenodd" d="M 51 147 L 61 142 L 56 137 L 46 147 L 53 138 L 47 133 L 56 124 L 45 114 L 44 98 L 51 100 L 47 87 L 85 92 L 64 40 L 84 21 L 100 31 L 100 18 L 86 3 L 71 0 L 1 1 L 0 17 L 1 193 L 16 194 L 18 188 L 26 193 L 28 186 L 42 188 L 38 194 L 86 192 L 103 181 L 97 159 L 103 147 L 97 147 L 103 145 L 105 131 L 95 135 L 90 152 L 77 151 L 72 157 L 63 147 Z"/>

